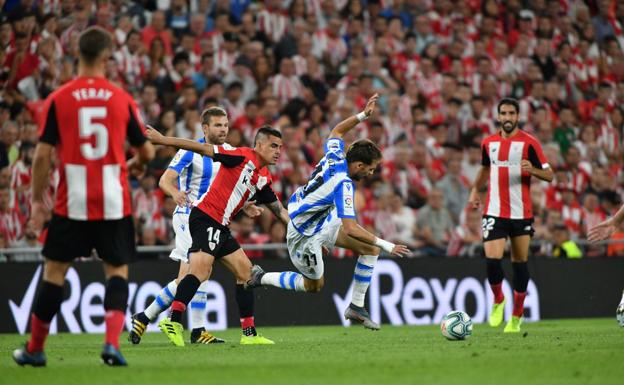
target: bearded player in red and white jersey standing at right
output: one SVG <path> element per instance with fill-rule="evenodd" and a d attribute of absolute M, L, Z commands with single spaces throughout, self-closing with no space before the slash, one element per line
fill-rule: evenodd
<path fill-rule="evenodd" d="M 524 298 L 529 284 L 529 242 L 533 235 L 531 208 L 531 176 L 550 182 L 553 171 L 533 136 L 518 128 L 518 101 L 511 98 L 498 103 L 501 130 L 483 140 L 481 168 L 470 191 L 469 203 L 481 207 L 479 191 L 489 180 L 481 228 L 487 262 L 487 276 L 494 293 L 489 323 L 497 327 L 503 322 L 505 296 L 501 260 L 507 238 L 511 241 L 514 303 L 513 315 L 505 333 L 520 332 Z"/>

